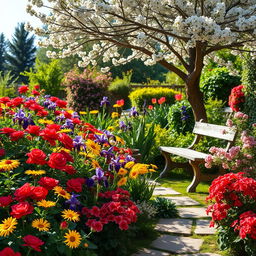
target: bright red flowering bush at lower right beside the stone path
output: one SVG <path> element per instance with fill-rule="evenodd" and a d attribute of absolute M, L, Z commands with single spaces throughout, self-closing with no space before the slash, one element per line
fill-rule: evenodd
<path fill-rule="evenodd" d="M 207 209 L 212 216 L 211 226 L 218 229 L 218 243 L 223 250 L 235 255 L 256 253 L 256 180 L 244 173 L 229 173 L 212 182 Z"/>

